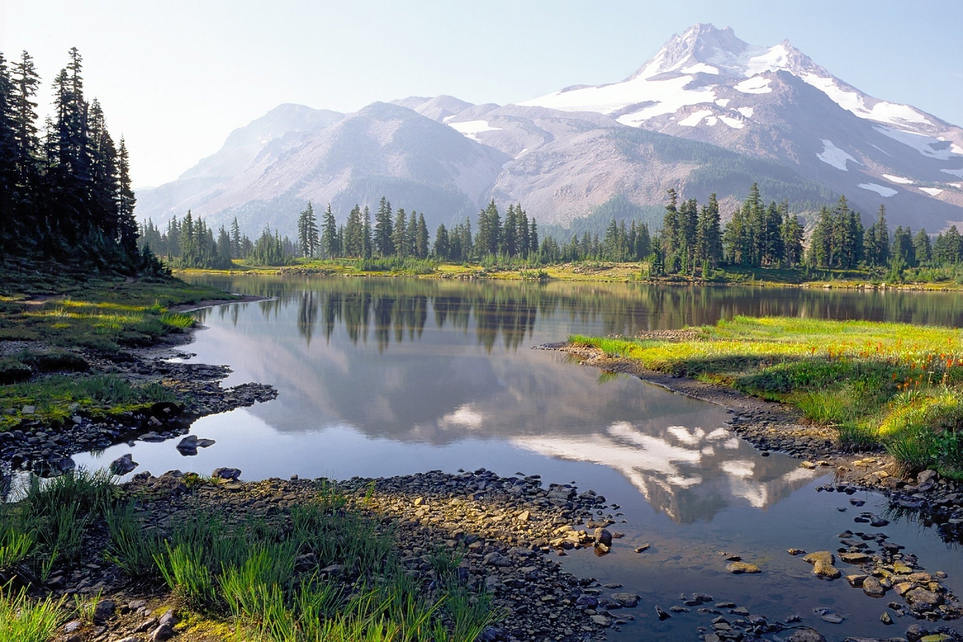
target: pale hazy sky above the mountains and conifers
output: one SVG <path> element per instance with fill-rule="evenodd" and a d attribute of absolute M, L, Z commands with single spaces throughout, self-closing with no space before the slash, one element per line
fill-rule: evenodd
<path fill-rule="evenodd" d="M 137 188 L 174 180 L 281 103 L 521 102 L 620 81 L 696 22 L 750 44 L 789 39 L 872 96 L 963 125 L 963 0 L 0 0 L 0 52 L 34 57 L 42 117 L 76 46 Z"/>

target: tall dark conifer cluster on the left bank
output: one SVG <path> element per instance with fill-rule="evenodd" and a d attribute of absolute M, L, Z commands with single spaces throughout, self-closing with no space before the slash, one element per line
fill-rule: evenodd
<path fill-rule="evenodd" d="M 53 116 L 38 122 L 40 83 L 26 51 L 0 53 L 0 252 L 91 270 L 161 270 L 139 251 L 127 147 L 87 100 L 76 48 L 54 79 Z"/>

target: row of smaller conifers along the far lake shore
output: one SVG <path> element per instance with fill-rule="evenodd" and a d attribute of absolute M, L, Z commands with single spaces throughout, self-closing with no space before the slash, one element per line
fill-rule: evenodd
<path fill-rule="evenodd" d="M 650 276 L 685 274 L 707 276 L 732 268 L 859 268 L 889 270 L 945 270 L 963 258 L 963 237 L 951 226 L 935 239 L 924 229 L 891 231 L 882 205 L 871 225 L 864 226 L 845 196 L 832 207 L 822 206 L 806 237 L 803 222 L 789 213 L 789 203 L 762 199 L 753 184 L 732 218 L 722 225 L 716 194 L 700 205 L 694 198 L 679 199 L 674 190 L 662 228 L 650 233 L 636 219 L 610 220 L 602 238 L 587 231 L 565 241 L 544 235 L 539 239 L 534 218 L 520 204 L 509 205 L 503 218 L 494 201 L 475 222 L 464 220 L 449 229 L 441 224 L 433 237 L 425 217 L 403 208 L 393 211 L 381 197 L 372 216 L 368 207 L 355 206 L 338 224 L 327 206 L 320 220 L 311 203 L 300 212 L 295 240 L 266 228 L 254 242 L 235 218 L 230 229 L 218 233 L 190 212 L 173 218 L 162 231 L 150 220 L 141 226 L 142 247 L 168 257 L 185 268 L 229 268 L 232 260 L 250 265 L 287 265 L 295 257 L 358 259 L 430 259 L 440 262 L 479 261 L 490 265 L 539 266 L 578 261 L 644 262 Z"/>

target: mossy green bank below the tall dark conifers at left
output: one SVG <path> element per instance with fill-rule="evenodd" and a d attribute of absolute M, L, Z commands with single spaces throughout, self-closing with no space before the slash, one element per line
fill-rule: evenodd
<path fill-rule="evenodd" d="M 24 419 L 57 424 L 78 413 L 99 417 L 173 400 L 158 384 L 135 386 L 111 372 L 91 372 L 89 357 L 119 358 L 194 325 L 169 306 L 233 298 L 173 278 L 36 268 L 0 268 L 0 346 L 8 347 L 0 353 L 0 430 Z M 24 406 L 36 410 L 25 415 Z"/>

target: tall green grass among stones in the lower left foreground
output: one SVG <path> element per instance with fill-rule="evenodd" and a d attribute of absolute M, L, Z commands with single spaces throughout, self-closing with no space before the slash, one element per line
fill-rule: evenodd
<path fill-rule="evenodd" d="M 94 560 L 145 594 L 167 591 L 188 629 L 219 639 L 463 642 L 496 616 L 490 597 L 458 578 L 457 551 L 429 555 L 427 589 L 400 562 L 391 528 L 324 480 L 288 514 L 198 507 L 165 528 L 144 523 L 143 499 L 110 475 L 78 471 L 35 478 L 20 501 L 0 503 L 0 640 L 46 642 L 67 620 L 90 623 L 98 596 L 38 600 L 30 588 Z M 106 548 L 91 548 L 97 534 Z"/>

